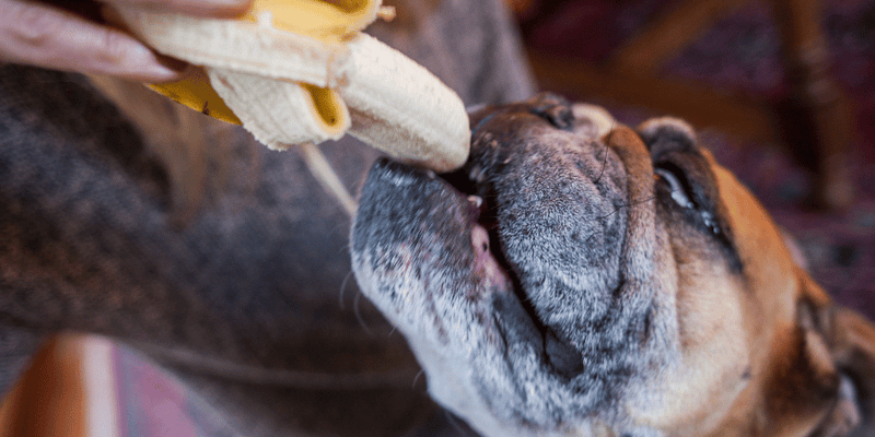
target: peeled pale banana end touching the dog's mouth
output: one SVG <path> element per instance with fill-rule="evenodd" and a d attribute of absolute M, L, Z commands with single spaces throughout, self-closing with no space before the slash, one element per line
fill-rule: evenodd
<path fill-rule="evenodd" d="M 468 158 L 468 113 L 462 99 L 422 66 L 374 37 L 350 49 L 349 85 L 340 95 L 352 116 L 350 133 L 390 156 L 436 172 Z"/>

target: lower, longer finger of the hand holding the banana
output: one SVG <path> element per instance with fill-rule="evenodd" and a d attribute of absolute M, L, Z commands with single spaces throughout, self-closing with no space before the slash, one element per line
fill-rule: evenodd
<path fill-rule="evenodd" d="M 22 0 L 0 0 L 0 59 L 145 82 L 179 76 L 180 61 L 159 57 L 112 27 L 67 11 Z"/>

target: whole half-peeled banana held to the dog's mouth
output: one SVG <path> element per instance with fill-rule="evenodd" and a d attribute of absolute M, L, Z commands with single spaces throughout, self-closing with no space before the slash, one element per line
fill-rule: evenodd
<path fill-rule="evenodd" d="M 232 20 L 117 5 L 156 51 L 202 70 L 153 90 L 243 125 L 271 149 L 346 133 L 436 172 L 468 155 L 459 97 L 428 70 L 361 33 L 381 0 L 255 0 Z"/>

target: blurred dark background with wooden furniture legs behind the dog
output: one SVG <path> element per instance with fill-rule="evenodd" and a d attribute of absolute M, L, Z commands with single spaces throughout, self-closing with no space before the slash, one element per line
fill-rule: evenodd
<path fill-rule="evenodd" d="M 875 319 L 875 1 L 508 1 L 541 90 L 691 121 Z"/>

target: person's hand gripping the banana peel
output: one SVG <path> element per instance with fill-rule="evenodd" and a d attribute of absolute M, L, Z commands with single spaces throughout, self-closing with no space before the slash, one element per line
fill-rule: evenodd
<path fill-rule="evenodd" d="M 252 0 L 0 0 L 0 63 L 14 62 L 143 82 L 178 79 L 186 63 L 152 51 L 108 24 L 102 9 L 136 3 L 155 11 L 226 17 Z"/>

